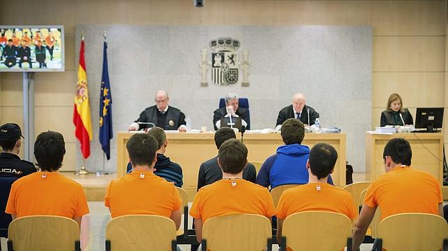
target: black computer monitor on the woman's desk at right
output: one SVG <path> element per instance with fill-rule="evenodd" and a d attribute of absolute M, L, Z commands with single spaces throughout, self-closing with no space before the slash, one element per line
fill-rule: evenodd
<path fill-rule="evenodd" d="M 427 132 L 435 132 L 435 128 L 442 128 L 442 108 L 417 108 L 415 128 L 426 128 Z"/>

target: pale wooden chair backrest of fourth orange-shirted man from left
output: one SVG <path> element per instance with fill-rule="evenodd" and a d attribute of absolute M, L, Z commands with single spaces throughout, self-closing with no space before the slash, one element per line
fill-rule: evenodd
<path fill-rule="evenodd" d="M 351 236 L 351 220 L 328 211 L 302 211 L 285 219 L 282 236 L 292 250 L 344 250 Z"/>

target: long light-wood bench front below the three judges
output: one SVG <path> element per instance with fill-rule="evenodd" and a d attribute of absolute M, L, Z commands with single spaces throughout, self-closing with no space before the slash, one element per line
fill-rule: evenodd
<path fill-rule="evenodd" d="M 126 166 L 129 161 L 126 143 L 133 134 L 129 132 L 118 133 L 117 177 L 122 177 L 126 173 Z M 189 194 L 189 200 L 192 201 L 198 185 L 200 164 L 218 154 L 214 141 L 214 133 L 167 133 L 166 136 L 168 138 L 166 156 L 182 166 L 182 170 L 184 171 L 183 188 Z M 237 133 L 237 138 L 241 139 L 241 134 Z M 248 148 L 249 162 L 264 162 L 267 157 L 275 153 L 278 146 L 283 145 L 282 138 L 278 133 L 246 133 L 243 141 Z M 334 146 L 337 150 L 339 157 L 333 173 L 333 180 L 337 186 L 344 187 L 346 135 L 344 133 L 307 133 L 305 134 L 303 144 L 311 148 L 314 144 L 322 142 Z"/>

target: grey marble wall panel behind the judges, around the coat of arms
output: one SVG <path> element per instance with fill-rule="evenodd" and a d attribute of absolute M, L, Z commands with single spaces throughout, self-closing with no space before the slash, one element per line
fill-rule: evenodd
<path fill-rule="evenodd" d="M 76 54 L 81 31 L 94 132 L 85 162 L 90 171 L 116 170 L 116 136 L 104 169 L 97 139 L 103 31 L 109 44 L 115 133 L 154 105 L 157 89 L 168 91 L 170 105 L 190 116 L 193 128 L 209 129 L 218 99 L 228 92 L 249 98 L 253 129 L 273 128 L 278 111 L 291 103 L 294 93 L 303 92 L 307 105 L 321 114 L 323 127 L 337 126 L 346 133 L 346 159 L 357 171 L 365 170 L 365 131 L 371 129 L 371 26 L 82 25 L 76 28 Z M 211 82 L 200 87 L 200 50 L 209 49 L 209 41 L 218 37 L 237 39 L 240 52 L 250 51 L 249 87 Z"/>

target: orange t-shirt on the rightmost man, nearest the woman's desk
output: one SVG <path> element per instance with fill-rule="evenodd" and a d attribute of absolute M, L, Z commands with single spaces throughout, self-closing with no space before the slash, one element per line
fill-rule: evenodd
<path fill-rule="evenodd" d="M 364 204 L 381 209 L 381 220 L 402 213 L 439 214 L 440 183 L 430 173 L 397 166 L 380 175 L 367 189 Z"/>

